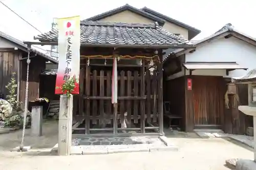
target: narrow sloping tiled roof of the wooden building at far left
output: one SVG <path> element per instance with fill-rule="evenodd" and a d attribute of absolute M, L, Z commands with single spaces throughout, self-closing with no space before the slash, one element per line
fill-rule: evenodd
<path fill-rule="evenodd" d="M 7 40 L 9 40 L 9 41 L 11 41 L 11 42 L 13 42 L 13 43 L 19 45 L 20 47 L 23 47 L 24 50 L 26 50 L 26 51 L 28 50 L 28 46 L 27 46 L 26 44 L 24 44 L 22 41 L 20 41 L 20 40 L 14 38 L 14 37 L 12 37 L 12 36 L 10 36 L 10 35 L 7 35 L 7 34 L 1 32 L 1 31 L 0 31 L 0 37 L 3 37 L 3 38 L 5 38 L 5 39 L 7 39 Z M 53 62 L 53 63 L 55 63 L 55 64 L 58 63 L 57 60 L 53 59 L 52 57 L 50 57 L 50 56 L 48 56 L 48 55 L 46 55 L 46 54 L 44 54 L 44 53 L 39 52 L 39 51 L 37 51 L 37 50 L 35 50 L 35 49 L 33 49 L 33 48 L 31 48 L 31 52 L 37 54 L 37 55 L 40 56 L 40 57 L 44 57 L 44 58 L 47 59 L 48 61 L 51 61 L 51 62 Z"/>

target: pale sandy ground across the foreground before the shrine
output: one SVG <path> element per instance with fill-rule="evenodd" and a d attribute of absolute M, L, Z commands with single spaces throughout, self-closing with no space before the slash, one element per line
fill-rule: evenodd
<path fill-rule="evenodd" d="M 50 125 L 48 125 L 50 126 Z M 15 133 L 10 133 L 13 137 Z M 17 135 L 17 134 L 16 134 Z M 56 135 L 55 135 L 56 136 Z M 230 158 L 253 159 L 253 153 L 246 145 L 222 138 L 199 138 L 195 133 L 176 133 L 169 131 L 166 136 L 180 148 L 180 151 L 159 151 L 154 153 L 118 153 L 108 155 L 73 155 L 73 156 L 52 156 L 49 150 L 46 152 L 17 153 L 8 152 L 3 149 L 10 148 L 11 138 L 3 139 L 0 136 L 0 144 L 3 151 L 0 151 L 0 170 L 16 169 L 133 169 L 133 170 L 224 170 L 225 160 Z M 8 137 L 5 134 L 5 137 Z M 49 135 L 48 138 L 53 136 Z M 29 136 L 27 136 L 29 139 Z M 27 140 L 28 140 L 27 139 Z M 54 143 L 53 139 L 46 139 L 45 145 Z M 16 140 L 15 140 L 16 142 Z M 44 148 L 44 144 L 38 141 L 37 145 Z M 41 144 L 40 144 L 41 143 Z M 4 145 L 2 145 L 4 144 Z M 54 144 L 53 144 L 54 145 Z M 47 148 L 47 147 L 46 147 Z M 0 148 L 1 149 L 1 148 Z"/>

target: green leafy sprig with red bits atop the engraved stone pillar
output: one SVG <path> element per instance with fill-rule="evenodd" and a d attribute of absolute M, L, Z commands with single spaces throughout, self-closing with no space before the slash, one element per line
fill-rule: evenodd
<path fill-rule="evenodd" d="M 60 87 L 56 87 L 56 89 L 61 89 L 63 94 L 67 94 L 69 98 L 76 86 L 78 86 L 78 80 L 75 77 L 71 77 L 70 79 L 64 80 L 63 84 Z"/>

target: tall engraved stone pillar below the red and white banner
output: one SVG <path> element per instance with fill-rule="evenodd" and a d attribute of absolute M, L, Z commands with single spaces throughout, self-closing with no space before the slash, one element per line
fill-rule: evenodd
<path fill-rule="evenodd" d="M 58 125 L 58 155 L 70 155 L 72 140 L 73 95 L 60 95 Z"/>

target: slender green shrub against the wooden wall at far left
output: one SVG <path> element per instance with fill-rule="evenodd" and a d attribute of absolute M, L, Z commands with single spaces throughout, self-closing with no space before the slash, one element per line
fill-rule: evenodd
<path fill-rule="evenodd" d="M 16 94 L 17 84 L 14 78 L 15 75 L 16 75 L 16 72 L 13 72 L 11 81 L 8 83 L 7 86 L 5 86 L 6 89 L 8 89 L 9 91 L 9 94 L 6 96 L 6 98 L 7 98 L 7 101 L 11 104 L 13 109 L 20 110 L 20 105 L 22 104 L 22 102 L 17 101 L 17 94 Z"/>

